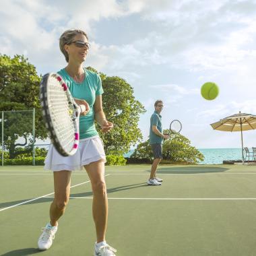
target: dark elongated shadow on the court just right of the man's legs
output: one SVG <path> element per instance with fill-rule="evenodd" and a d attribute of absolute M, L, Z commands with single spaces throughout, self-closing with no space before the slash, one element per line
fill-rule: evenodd
<path fill-rule="evenodd" d="M 230 170 L 229 168 L 224 167 L 214 167 L 214 166 L 175 166 L 175 167 L 158 167 L 157 173 L 170 173 L 170 174 L 195 174 L 195 173 L 207 173 L 207 172 L 226 172 Z M 150 172 L 150 170 L 147 170 Z"/>

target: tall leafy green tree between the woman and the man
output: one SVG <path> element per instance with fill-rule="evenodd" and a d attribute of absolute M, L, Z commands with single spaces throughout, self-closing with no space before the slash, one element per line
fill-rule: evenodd
<path fill-rule="evenodd" d="M 96 71 L 92 67 L 88 67 Z M 101 133 L 106 154 L 123 154 L 142 139 L 138 127 L 139 115 L 145 113 L 143 105 L 133 96 L 133 88 L 121 77 L 108 77 L 99 73 L 102 79 L 102 105 L 106 118 L 114 124 L 109 133 Z"/>

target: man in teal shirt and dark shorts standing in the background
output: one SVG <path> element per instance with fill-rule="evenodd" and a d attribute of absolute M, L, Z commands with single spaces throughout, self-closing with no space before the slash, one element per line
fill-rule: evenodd
<path fill-rule="evenodd" d="M 162 185 L 162 179 L 156 177 L 156 169 L 162 159 L 162 143 L 168 139 L 168 135 L 162 133 L 162 116 L 160 115 L 164 106 L 162 100 L 156 100 L 155 111 L 150 118 L 150 145 L 152 148 L 154 162 L 151 166 L 150 179 L 148 185 Z"/>

